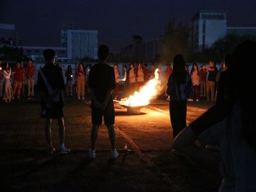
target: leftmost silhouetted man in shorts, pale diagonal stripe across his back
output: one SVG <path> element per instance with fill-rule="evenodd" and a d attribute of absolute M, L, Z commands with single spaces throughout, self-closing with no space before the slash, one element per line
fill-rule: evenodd
<path fill-rule="evenodd" d="M 51 122 L 52 119 L 57 119 L 60 134 L 60 153 L 67 154 L 70 150 L 64 145 L 63 90 L 65 90 L 65 84 L 61 68 L 54 65 L 54 56 L 55 52 L 52 49 L 45 49 L 44 58 L 46 63 L 38 72 L 37 86 L 41 97 L 41 116 L 45 119 L 45 138 L 49 145 L 48 152 L 50 154 L 55 152 L 51 141 Z"/>

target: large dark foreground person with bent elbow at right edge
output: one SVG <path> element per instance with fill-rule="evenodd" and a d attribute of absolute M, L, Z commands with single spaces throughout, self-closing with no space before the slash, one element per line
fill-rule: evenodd
<path fill-rule="evenodd" d="M 224 102 L 216 102 L 180 132 L 173 143 L 178 153 L 190 157 L 205 152 L 195 145 L 196 140 L 218 148 L 223 177 L 220 191 L 256 191 L 256 121 L 252 113 L 256 108 L 256 77 L 253 70 L 241 67 L 253 66 L 255 54 L 255 41 L 237 46 L 221 86 L 225 89 L 225 94 L 220 94 Z"/>

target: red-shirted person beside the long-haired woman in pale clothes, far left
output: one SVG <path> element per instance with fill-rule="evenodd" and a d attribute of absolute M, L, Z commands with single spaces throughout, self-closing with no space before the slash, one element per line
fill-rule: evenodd
<path fill-rule="evenodd" d="M 22 88 L 22 81 L 24 76 L 23 67 L 20 65 L 20 61 L 16 62 L 16 67 L 13 68 L 13 78 L 14 78 L 14 90 L 13 95 L 17 94 L 17 99 L 20 99 L 20 90 Z"/>

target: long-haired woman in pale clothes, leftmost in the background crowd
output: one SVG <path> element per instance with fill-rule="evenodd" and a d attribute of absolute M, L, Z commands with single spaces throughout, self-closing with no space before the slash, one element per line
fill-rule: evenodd
<path fill-rule="evenodd" d="M 5 102 L 12 101 L 12 84 L 10 78 L 12 76 L 12 68 L 9 67 L 8 62 L 3 64 L 3 76 L 4 76 L 4 100 Z"/>

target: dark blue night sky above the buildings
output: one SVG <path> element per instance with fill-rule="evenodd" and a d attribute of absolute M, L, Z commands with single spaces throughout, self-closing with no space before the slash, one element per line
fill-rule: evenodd
<path fill-rule="evenodd" d="M 197 10 L 226 11 L 228 26 L 256 26 L 255 0 L 0 0 L 0 23 L 15 24 L 22 45 L 60 46 L 61 20 L 72 21 L 77 29 L 97 29 L 99 43 L 118 52 L 132 35 L 154 39 L 168 19 L 188 24 Z"/>

